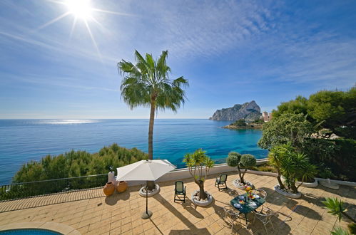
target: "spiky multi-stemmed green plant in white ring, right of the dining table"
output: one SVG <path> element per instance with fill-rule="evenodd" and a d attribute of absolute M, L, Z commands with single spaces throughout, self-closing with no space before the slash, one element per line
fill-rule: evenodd
<path fill-rule="evenodd" d="M 278 183 L 275 186 L 275 191 L 283 194 L 286 197 L 300 198 L 302 194 L 298 192 L 298 188 L 302 185 L 296 185 L 297 179 L 302 179 L 302 182 L 307 177 L 314 177 L 313 172 L 308 172 L 310 169 L 316 170 L 315 166 L 309 163 L 307 155 L 297 152 L 290 144 L 278 145 L 272 148 L 269 155 L 270 164 L 278 171 Z M 284 177 L 283 184 L 281 177 Z"/>

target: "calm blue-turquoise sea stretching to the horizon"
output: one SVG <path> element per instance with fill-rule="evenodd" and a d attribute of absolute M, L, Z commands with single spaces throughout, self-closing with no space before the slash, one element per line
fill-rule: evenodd
<path fill-rule="evenodd" d="M 223 129 L 228 121 L 205 119 L 156 119 L 153 158 L 185 167 L 183 156 L 202 148 L 216 163 L 225 162 L 230 151 L 265 158 L 258 147 L 261 130 Z M 117 143 L 148 152 L 148 119 L 116 120 L 0 120 L 0 184 L 11 183 L 21 165 L 70 150 L 98 152 Z"/>

